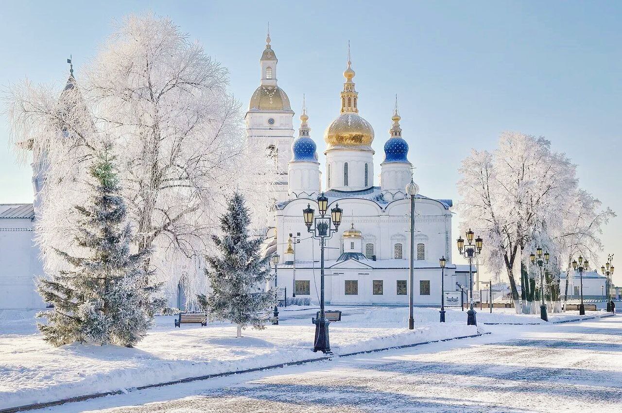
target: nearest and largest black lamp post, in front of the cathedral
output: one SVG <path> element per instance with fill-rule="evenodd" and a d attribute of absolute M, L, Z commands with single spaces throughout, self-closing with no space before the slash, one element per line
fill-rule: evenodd
<path fill-rule="evenodd" d="M 302 210 L 307 231 L 312 233 L 313 238 L 320 240 L 320 318 L 314 318 L 315 324 L 315 341 L 313 343 L 313 351 L 322 351 L 330 353 L 330 341 L 328 339 L 328 320 L 324 313 L 324 247 L 326 240 L 336 233 L 341 224 L 341 216 L 343 210 L 339 208 L 339 204 L 330 210 L 330 216 L 327 216 L 328 198 L 324 193 L 317 197 L 318 212 L 320 216 L 315 216 L 315 210 L 311 208 L 311 204 Z M 334 226 L 334 227 L 333 227 Z"/>

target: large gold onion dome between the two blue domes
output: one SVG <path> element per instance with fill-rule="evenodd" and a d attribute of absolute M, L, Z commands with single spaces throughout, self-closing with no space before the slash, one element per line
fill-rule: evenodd
<path fill-rule="evenodd" d="M 333 147 L 362 147 L 371 149 L 374 129 L 356 113 L 344 113 L 328 126 L 324 133 L 327 149 Z"/>

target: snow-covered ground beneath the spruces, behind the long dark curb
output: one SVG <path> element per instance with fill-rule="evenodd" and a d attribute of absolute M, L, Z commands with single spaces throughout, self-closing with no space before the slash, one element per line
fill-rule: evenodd
<path fill-rule="evenodd" d="M 330 325 L 335 354 L 409 345 L 473 335 L 466 312 L 447 309 L 447 323 L 439 323 L 438 309 L 415 308 L 415 330 L 406 329 L 406 307 L 335 307 L 343 321 Z M 235 327 L 219 323 L 174 328 L 174 317 L 157 317 L 157 325 L 136 348 L 96 345 L 47 345 L 35 327 L 34 313 L 0 312 L 0 409 L 106 391 L 118 391 L 208 374 L 261 368 L 279 363 L 320 358 L 313 353 L 317 309 L 281 309 L 281 323 L 265 330 L 245 330 L 234 338 Z M 601 313 L 598 313 L 599 315 Z M 596 315 L 588 313 L 586 317 Z M 551 319 L 578 318 L 575 313 Z M 513 310 L 478 311 L 479 331 L 485 322 L 539 322 L 537 315 Z"/>

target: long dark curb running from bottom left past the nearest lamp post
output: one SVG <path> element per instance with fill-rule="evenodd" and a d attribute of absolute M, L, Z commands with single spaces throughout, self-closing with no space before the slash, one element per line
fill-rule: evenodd
<path fill-rule="evenodd" d="M 218 377 L 233 376 L 233 374 L 254 373 L 256 371 L 262 371 L 262 370 L 272 370 L 272 369 L 284 368 L 284 367 L 289 367 L 289 366 L 300 366 L 301 364 L 315 363 L 317 361 L 333 360 L 333 358 L 348 357 L 348 356 L 360 355 L 360 354 L 365 354 L 365 353 L 376 353 L 378 351 L 386 351 L 386 350 L 398 350 L 400 348 L 422 346 L 425 344 L 440 343 L 442 341 L 462 340 L 463 338 L 481 337 L 481 336 L 488 335 L 488 334 L 491 334 L 491 333 L 486 332 L 486 333 L 478 333 L 478 334 L 468 335 L 468 336 L 443 338 L 442 340 L 422 341 L 420 343 L 405 344 L 401 346 L 392 346 L 392 347 L 386 347 L 386 348 L 376 348 L 373 350 L 355 351 L 353 353 L 346 353 L 343 355 L 330 355 L 330 356 L 324 356 L 320 358 L 309 358 L 309 359 L 300 360 L 300 361 L 290 361 L 289 363 L 272 364 L 271 366 L 256 367 L 252 369 L 244 369 L 244 370 L 238 370 L 238 371 L 226 371 L 225 373 L 216 373 L 216 374 L 207 374 L 205 376 L 188 377 L 185 379 L 165 381 L 163 383 L 155 383 L 155 384 L 147 384 L 145 386 L 131 387 L 130 389 L 128 389 L 128 391 L 114 390 L 114 391 L 107 391 L 107 392 L 102 392 L 102 393 L 86 394 L 85 396 L 68 397 L 67 399 L 60 399 L 60 400 L 51 401 L 51 402 L 42 402 L 42 403 L 27 404 L 25 406 L 9 407 L 8 409 L 1 409 L 0 413 L 16 413 L 16 412 L 35 410 L 35 409 L 43 409 L 45 407 L 60 406 L 61 404 L 65 404 L 65 403 L 81 402 L 81 401 L 85 401 L 89 399 L 97 399 L 99 397 L 104 397 L 104 396 L 114 396 L 116 394 L 127 394 L 129 391 L 134 391 L 134 390 L 144 390 L 144 389 L 150 389 L 152 387 L 162 387 L 162 386 L 170 386 L 172 384 L 190 383 L 191 381 L 199 381 L 199 380 L 207 380 L 207 379 L 213 379 L 213 378 L 218 378 Z"/>

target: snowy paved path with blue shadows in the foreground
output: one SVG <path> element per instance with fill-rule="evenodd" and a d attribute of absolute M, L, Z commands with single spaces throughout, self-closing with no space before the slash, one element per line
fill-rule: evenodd
<path fill-rule="evenodd" d="M 494 331 L 485 338 L 166 386 L 47 411 L 620 411 L 622 317 Z"/>

